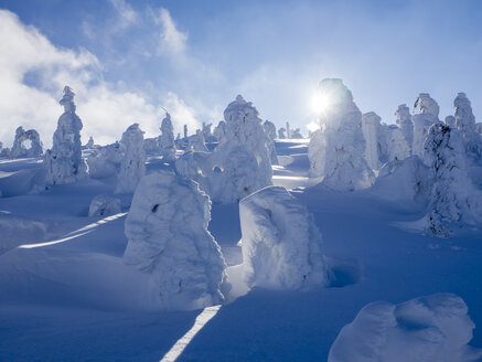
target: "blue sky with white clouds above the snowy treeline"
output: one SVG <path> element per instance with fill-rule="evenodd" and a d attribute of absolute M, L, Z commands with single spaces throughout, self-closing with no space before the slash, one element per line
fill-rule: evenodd
<path fill-rule="evenodd" d="M 0 100 L 7 146 L 20 124 L 40 128 L 50 143 L 64 83 L 77 91 L 83 137 L 100 142 L 133 121 L 154 136 L 160 106 L 176 131 L 216 124 L 237 94 L 263 119 L 307 132 L 323 77 L 343 78 L 361 110 L 386 123 L 421 92 L 439 103 L 442 119 L 458 92 L 475 116 L 482 111 L 481 1 L 22 0 L 0 8 L 9 11 L 2 42 L 31 47 L 0 52 L 10 64 L 4 77 L 17 74 L 17 91 Z M 35 29 L 41 39 L 29 40 Z"/>

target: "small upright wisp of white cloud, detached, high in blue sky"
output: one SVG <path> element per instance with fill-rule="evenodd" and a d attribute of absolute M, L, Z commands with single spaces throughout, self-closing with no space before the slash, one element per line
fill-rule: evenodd
<path fill-rule="evenodd" d="M 188 34 L 179 31 L 168 9 L 161 8 L 157 23 L 161 25 L 160 50 L 168 55 L 182 55 L 185 51 Z"/>

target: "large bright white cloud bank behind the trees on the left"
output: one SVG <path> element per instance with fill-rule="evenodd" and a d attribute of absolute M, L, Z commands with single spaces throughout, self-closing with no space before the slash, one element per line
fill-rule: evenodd
<path fill-rule="evenodd" d="M 84 142 L 93 136 L 107 143 L 120 138 L 132 123 L 147 137 L 159 135 L 158 106 L 140 94 L 119 91 L 103 81 L 101 65 L 87 52 L 61 50 L 10 11 L 0 10 L 0 140 L 11 147 L 19 126 L 39 130 L 46 147 L 63 109 L 58 105 L 64 85 L 76 93 L 77 114 L 84 124 Z M 174 127 L 197 127 L 195 110 L 175 94 L 161 97 L 173 115 Z"/>

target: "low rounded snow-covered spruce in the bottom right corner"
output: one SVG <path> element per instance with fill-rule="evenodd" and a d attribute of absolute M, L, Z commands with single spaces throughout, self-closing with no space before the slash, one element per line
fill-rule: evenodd
<path fill-rule="evenodd" d="M 482 350 L 468 345 L 474 327 L 465 302 L 452 294 L 375 301 L 343 327 L 328 361 L 481 361 Z"/>

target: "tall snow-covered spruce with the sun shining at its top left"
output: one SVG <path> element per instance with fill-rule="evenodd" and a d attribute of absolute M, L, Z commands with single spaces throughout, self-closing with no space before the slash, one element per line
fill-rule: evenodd
<path fill-rule="evenodd" d="M 364 158 L 365 138 L 362 113 L 341 79 L 320 82 L 330 108 L 320 115 L 323 129 L 317 130 L 309 146 L 310 175 L 322 178 L 333 190 L 358 190 L 373 184 L 375 175 Z"/>

